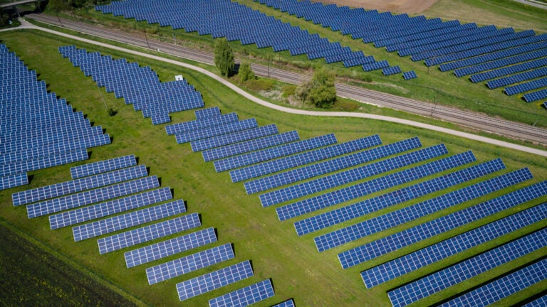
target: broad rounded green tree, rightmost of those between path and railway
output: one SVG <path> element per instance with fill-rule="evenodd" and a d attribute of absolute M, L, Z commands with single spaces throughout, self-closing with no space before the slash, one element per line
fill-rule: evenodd
<path fill-rule="evenodd" d="M 327 109 L 336 101 L 336 89 L 334 87 L 334 73 L 321 68 L 316 70 L 308 82 L 303 82 L 296 89 L 296 96 L 306 104 Z"/>

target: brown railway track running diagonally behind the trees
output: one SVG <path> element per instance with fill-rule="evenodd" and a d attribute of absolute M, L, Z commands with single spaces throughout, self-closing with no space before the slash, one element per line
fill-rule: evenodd
<path fill-rule="evenodd" d="M 187 58 L 200 63 L 214 65 L 214 55 L 209 52 L 186 48 L 173 43 L 155 41 L 148 39 L 145 34 L 126 33 L 114 29 L 102 28 L 100 26 L 90 25 L 80 21 L 71 21 L 56 16 L 48 16 L 43 14 L 31 14 L 26 17 L 50 23 L 56 26 L 69 28 L 73 31 L 86 33 L 100 38 L 107 38 L 121 43 L 127 43 L 142 48 L 151 50 L 159 50 L 160 52 L 175 55 L 180 58 Z M 303 80 L 309 78 L 308 75 L 298 74 L 296 72 L 288 72 L 278 68 L 271 68 L 264 65 L 252 64 L 252 70 L 256 75 L 261 77 L 271 77 L 282 82 L 298 85 Z M 469 112 L 462 109 L 456 109 L 429 102 L 421 102 L 415 99 L 398 97 L 373 90 L 366 90 L 361 87 L 345 85 L 337 82 L 335 84 L 337 93 L 340 97 L 356 99 L 360 102 L 375 104 L 379 107 L 389 107 L 403 112 L 421 115 L 423 117 L 433 117 L 441 119 L 445 122 L 451 122 L 460 126 L 467 126 L 471 129 L 486 131 L 492 134 L 506 136 L 511 139 L 520 139 L 531 141 L 535 144 L 547 146 L 547 129 L 540 127 L 511 122 L 504 119 L 489 117 L 476 112 Z"/>

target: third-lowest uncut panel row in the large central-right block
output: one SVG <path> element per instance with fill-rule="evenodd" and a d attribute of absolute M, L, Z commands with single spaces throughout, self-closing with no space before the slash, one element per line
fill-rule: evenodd
<path fill-rule="evenodd" d="M 385 188 L 390 188 L 395 185 L 424 178 L 425 176 L 430 176 L 434 173 L 438 173 L 439 171 L 447 171 L 450 168 L 462 166 L 472 161 L 475 161 L 475 158 L 471 151 L 467 151 L 463 154 L 457 154 L 448 158 L 424 164 L 422 166 L 417 166 L 405 171 L 376 178 L 371 181 L 358 183 L 348 188 L 342 188 L 330 193 L 318 195 L 296 203 L 291 203 L 290 205 L 276 208 L 276 212 L 279 220 L 287 220 L 291 217 L 296 217 L 304 213 L 313 212 L 321 208 L 326 208 L 348 200 L 353 200 Z"/>

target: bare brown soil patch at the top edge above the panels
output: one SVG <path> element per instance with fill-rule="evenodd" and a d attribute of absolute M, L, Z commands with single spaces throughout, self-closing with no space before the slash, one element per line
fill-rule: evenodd
<path fill-rule="evenodd" d="M 325 4 L 408 14 L 422 13 L 437 1 L 439 0 L 321 0 Z"/>

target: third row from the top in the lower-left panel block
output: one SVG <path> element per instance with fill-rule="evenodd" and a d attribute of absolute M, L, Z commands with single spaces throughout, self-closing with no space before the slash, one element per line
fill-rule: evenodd
<path fill-rule="evenodd" d="M 120 196 L 129 195 L 132 193 L 150 190 L 160 186 L 157 176 L 150 176 L 135 181 L 118 183 L 116 185 L 108 185 L 104 188 L 95 190 L 87 190 L 78 194 L 71 194 L 62 198 L 53 198 L 40 203 L 27 205 L 26 210 L 28 218 L 40 217 L 63 210 L 68 210 L 84 205 L 90 205 L 103 200 L 118 198 Z"/>

